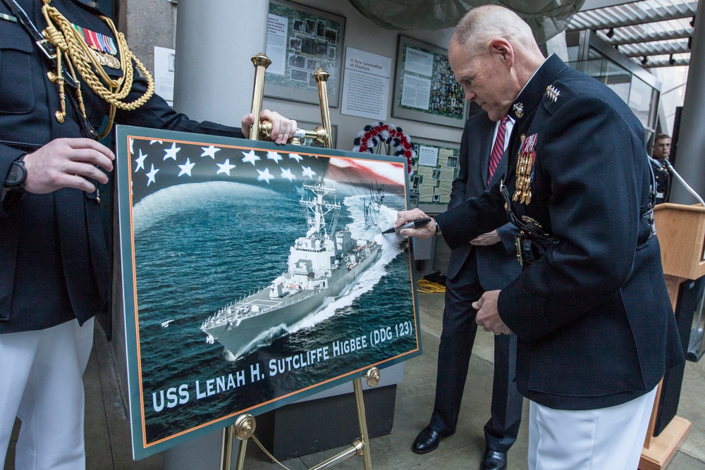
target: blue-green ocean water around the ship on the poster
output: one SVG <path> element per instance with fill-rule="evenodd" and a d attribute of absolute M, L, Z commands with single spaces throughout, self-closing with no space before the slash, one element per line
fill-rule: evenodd
<path fill-rule="evenodd" d="M 418 349 L 409 252 L 396 236 L 380 234 L 403 198 L 388 194 L 366 222 L 369 197 L 345 187 L 335 195 L 343 204 L 338 228 L 377 240 L 375 264 L 325 307 L 236 360 L 218 342 L 206 342 L 200 326 L 208 316 L 286 270 L 290 245 L 307 230 L 302 192 L 285 183 L 200 183 L 162 190 L 135 206 L 147 445 L 248 409 L 257 414 L 252 407 Z"/>

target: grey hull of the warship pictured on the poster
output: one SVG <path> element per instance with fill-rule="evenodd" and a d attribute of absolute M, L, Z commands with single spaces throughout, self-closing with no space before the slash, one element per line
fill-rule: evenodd
<path fill-rule="evenodd" d="M 202 330 L 223 345 L 237 359 L 256 345 L 269 343 L 286 334 L 285 328 L 305 319 L 309 314 L 313 314 L 326 302 L 326 299 L 333 299 L 340 295 L 346 287 L 352 285 L 364 271 L 367 271 L 369 266 L 374 264 L 378 256 L 379 245 L 375 245 L 372 252 L 360 264 L 338 276 L 331 276 L 329 287 L 326 289 L 300 290 L 293 295 L 278 299 L 283 302 L 281 307 L 233 323 L 223 321 L 222 324 L 204 327 Z M 238 303 L 257 302 L 271 302 L 268 289 L 250 295 Z"/>

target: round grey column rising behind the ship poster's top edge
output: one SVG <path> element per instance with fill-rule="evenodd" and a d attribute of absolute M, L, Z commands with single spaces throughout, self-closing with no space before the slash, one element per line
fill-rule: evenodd
<path fill-rule="evenodd" d="M 250 112 L 255 67 L 266 47 L 269 0 L 180 0 L 174 109 L 240 127 Z"/>

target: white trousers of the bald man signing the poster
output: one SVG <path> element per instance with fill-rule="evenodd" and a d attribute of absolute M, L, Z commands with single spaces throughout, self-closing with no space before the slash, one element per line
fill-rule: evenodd
<path fill-rule="evenodd" d="M 600 409 L 529 402 L 529 470 L 637 470 L 657 388 Z"/>

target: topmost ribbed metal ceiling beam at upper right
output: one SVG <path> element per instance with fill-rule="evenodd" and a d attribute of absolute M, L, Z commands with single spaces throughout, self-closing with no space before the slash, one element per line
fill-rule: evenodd
<path fill-rule="evenodd" d="M 658 21 L 680 20 L 690 18 L 695 15 L 697 1 L 687 4 L 670 5 L 668 7 L 654 8 L 653 10 L 639 10 L 634 16 L 627 16 L 623 8 L 612 7 L 601 10 L 601 15 L 594 11 L 576 13 L 573 16 L 568 32 L 581 30 L 606 30 L 611 27 L 623 27 L 642 25 L 644 23 L 656 23 Z M 611 11 L 613 10 L 613 11 Z"/>

